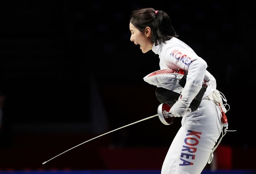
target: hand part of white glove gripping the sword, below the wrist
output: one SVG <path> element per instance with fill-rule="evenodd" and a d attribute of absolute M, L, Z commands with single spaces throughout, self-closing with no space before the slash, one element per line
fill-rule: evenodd
<path fill-rule="evenodd" d="M 170 109 L 169 116 L 171 117 L 187 117 L 191 109 L 184 106 L 181 100 L 176 101 L 172 108 Z"/>

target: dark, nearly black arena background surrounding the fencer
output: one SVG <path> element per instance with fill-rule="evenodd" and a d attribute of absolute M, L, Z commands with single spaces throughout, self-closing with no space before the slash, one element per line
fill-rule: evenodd
<path fill-rule="evenodd" d="M 255 152 L 255 3 L 8 1 L 0 5 L 0 88 L 6 97 L 0 169 L 105 169 L 92 165 L 98 147 L 169 147 L 181 118 L 166 126 L 155 117 L 41 165 L 157 113 L 155 86 L 143 77 L 159 70 L 158 55 L 143 54 L 130 41 L 129 15 L 145 7 L 170 15 L 179 39 L 206 60 L 226 96 L 229 130 L 237 131 L 221 144 L 236 149 L 237 158 L 238 152 Z M 84 158 L 91 166 L 82 164 Z M 240 165 L 233 167 L 248 167 Z"/>

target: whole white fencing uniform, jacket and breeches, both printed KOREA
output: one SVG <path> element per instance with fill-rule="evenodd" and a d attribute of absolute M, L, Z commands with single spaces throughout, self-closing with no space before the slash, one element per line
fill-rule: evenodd
<path fill-rule="evenodd" d="M 207 63 L 177 38 L 161 45 L 153 45 L 152 51 L 159 55 L 161 70 L 182 69 L 187 73 L 186 85 L 179 98 L 183 105 L 189 106 L 202 88 L 203 82 L 208 81 L 199 108 L 189 115 L 181 115 L 181 128 L 173 139 L 161 171 L 161 174 L 200 174 L 223 128 L 221 108 L 207 97 L 214 91 L 219 95 L 215 78 L 206 70 Z M 150 84 L 173 90 L 173 86 L 168 86 L 173 81 L 173 76 L 166 75 L 163 79 L 162 82 L 154 84 L 144 78 Z"/>

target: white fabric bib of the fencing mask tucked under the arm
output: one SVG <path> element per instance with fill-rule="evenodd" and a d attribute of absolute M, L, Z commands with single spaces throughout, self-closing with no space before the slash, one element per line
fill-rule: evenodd
<path fill-rule="evenodd" d="M 180 84 L 178 83 L 183 77 L 182 74 L 166 73 L 149 76 L 150 74 L 145 76 L 143 80 L 151 85 L 155 85 L 158 88 L 162 87 L 165 89 L 169 89 L 179 94 L 183 90 L 182 86 L 180 86 Z"/>

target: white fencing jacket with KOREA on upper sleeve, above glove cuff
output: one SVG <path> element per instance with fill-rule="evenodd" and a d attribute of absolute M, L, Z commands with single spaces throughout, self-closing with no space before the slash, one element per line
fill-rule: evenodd
<path fill-rule="evenodd" d="M 181 40 L 172 38 L 161 45 L 153 45 L 152 51 L 159 55 L 160 69 L 183 69 L 187 73 L 187 81 L 198 86 L 208 81 L 203 98 L 216 90 L 216 80 L 206 70 L 207 63 Z"/>

